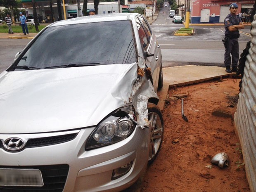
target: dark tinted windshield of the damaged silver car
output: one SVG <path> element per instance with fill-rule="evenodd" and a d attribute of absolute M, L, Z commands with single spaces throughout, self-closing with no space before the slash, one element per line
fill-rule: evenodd
<path fill-rule="evenodd" d="M 130 21 L 54 26 L 40 34 L 12 70 L 130 64 L 136 56 Z"/>

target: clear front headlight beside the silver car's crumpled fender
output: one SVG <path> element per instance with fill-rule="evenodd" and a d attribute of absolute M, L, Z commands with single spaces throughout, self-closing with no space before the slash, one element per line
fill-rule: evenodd
<path fill-rule="evenodd" d="M 95 149 L 126 139 L 137 125 L 135 120 L 133 106 L 117 109 L 96 126 L 85 149 Z"/>

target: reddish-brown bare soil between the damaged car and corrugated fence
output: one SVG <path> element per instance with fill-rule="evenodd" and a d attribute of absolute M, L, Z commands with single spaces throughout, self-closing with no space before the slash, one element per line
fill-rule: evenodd
<path fill-rule="evenodd" d="M 250 191 L 232 119 L 239 81 L 228 78 L 169 90 L 170 103 L 163 111 L 164 140 L 145 173 L 142 192 Z M 188 122 L 182 119 L 181 98 Z M 211 164 L 220 152 L 228 154 L 228 167 Z"/>

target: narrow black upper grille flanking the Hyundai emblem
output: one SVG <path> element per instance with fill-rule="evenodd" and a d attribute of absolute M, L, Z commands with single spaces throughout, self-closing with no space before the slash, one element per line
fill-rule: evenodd
<path fill-rule="evenodd" d="M 78 133 L 71 133 L 67 135 L 57 135 L 52 137 L 41 137 L 29 139 L 26 143 L 26 147 L 42 147 L 46 145 L 55 145 L 63 142 L 73 140 Z M 2 141 L 0 140 L 0 148 L 3 148 Z"/>

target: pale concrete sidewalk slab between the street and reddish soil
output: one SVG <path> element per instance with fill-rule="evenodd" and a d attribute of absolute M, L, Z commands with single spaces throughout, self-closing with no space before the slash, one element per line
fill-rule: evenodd
<path fill-rule="evenodd" d="M 232 77 L 232 74 L 225 72 L 225 68 L 219 66 L 186 65 L 163 68 L 164 86 L 157 92 L 160 99 L 158 107 L 160 110 L 164 109 L 168 90 L 171 87 L 175 88 L 224 76 Z"/>

